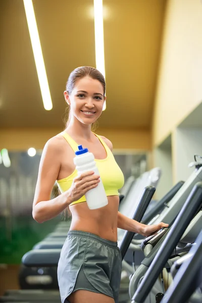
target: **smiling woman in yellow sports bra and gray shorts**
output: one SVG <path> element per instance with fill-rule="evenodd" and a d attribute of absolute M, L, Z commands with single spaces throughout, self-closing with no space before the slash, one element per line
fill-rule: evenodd
<path fill-rule="evenodd" d="M 41 156 L 36 184 L 33 218 L 42 223 L 69 207 L 72 222 L 61 251 L 58 281 L 62 303 L 118 303 L 121 255 L 117 227 L 148 235 L 168 224 L 147 226 L 118 212 L 118 189 L 124 177 L 113 154 L 112 143 L 95 135 L 91 125 L 103 111 L 105 79 L 92 67 L 79 67 L 69 76 L 65 100 L 70 108 L 64 132 L 49 139 Z M 93 153 L 98 175 L 77 175 L 73 158 L 78 145 Z M 108 205 L 89 210 L 85 193 L 102 178 Z M 57 180 L 61 195 L 50 199 Z"/>

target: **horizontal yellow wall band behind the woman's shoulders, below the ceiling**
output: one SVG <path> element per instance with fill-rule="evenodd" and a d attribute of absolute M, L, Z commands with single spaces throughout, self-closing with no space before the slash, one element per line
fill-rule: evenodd
<path fill-rule="evenodd" d="M 62 130 L 53 129 L 4 129 L 0 132 L 0 149 L 26 150 L 29 147 L 42 149 L 45 142 Z M 97 129 L 97 134 L 110 139 L 115 149 L 149 150 L 150 132 L 147 130 Z"/>

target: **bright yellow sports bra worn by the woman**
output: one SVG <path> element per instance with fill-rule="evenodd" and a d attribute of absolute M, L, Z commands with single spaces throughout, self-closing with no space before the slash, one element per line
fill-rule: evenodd
<path fill-rule="evenodd" d="M 77 144 L 70 137 L 70 135 L 68 135 L 65 131 L 60 133 L 60 135 L 62 135 L 67 140 L 67 142 L 70 144 L 70 146 L 72 147 L 74 152 L 76 150 L 78 150 L 79 144 Z M 103 182 L 103 185 L 105 188 L 105 192 L 106 192 L 107 196 L 118 195 L 119 194 L 118 189 L 120 189 L 124 184 L 124 175 L 123 175 L 120 167 L 116 163 L 116 160 L 114 159 L 114 156 L 113 156 L 110 148 L 107 146 L 107 144 L 104 142 L 104 140 L 100 136 L 96 135 L 95 133 L 94 133 L 94 135 L 103 144 L 103 146 L 105 147 L 106 153 L 107 153 L 107 158 L 105 158 L 103 160 L 95 159 L 96 166 L 99 170 L 100 178 L 102 179 L 102 182 Z M 56 181 L 58 184 L 58 187 L 62 193 L 71 187 L 72 181 L 77 175 L 78 175 L 78 173 L 77 173 L 77 170 L 75 169 L 74 172 L 70 176 Z M 84 202 L 84 201 L 86 201 L 85 195 L 82 196 L 79 200 L 71 203 L 70 206 L 77 204 L 77 203 Z"/>

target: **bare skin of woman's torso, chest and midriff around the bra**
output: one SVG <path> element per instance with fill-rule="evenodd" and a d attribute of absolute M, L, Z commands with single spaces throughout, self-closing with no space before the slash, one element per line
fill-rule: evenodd
<path fill-rule="evenodd" d="M 73 158 L 74 151 L 67 144 L 66 140 L 59 136 L 61 149 L 61 168 L 58 175 L 58 180 L 63 179 L 73 173 L 75 165 Z M 105 159 L 107 152 L 99 139 L 93 137 L 94 141 L 89 143 L 79 140 L 83 146 L 86 146 L 96 159 Z M 74 204 L 69 207 L 72 214 L 72 222 L 70 230 L 80 230 L 90 232 L 101 238 L 117 241 L 117 220 L 118 220 L 119 196 L 108 196 L 108 205 L 96 210 L 90 210 L 86 201 Z"/>

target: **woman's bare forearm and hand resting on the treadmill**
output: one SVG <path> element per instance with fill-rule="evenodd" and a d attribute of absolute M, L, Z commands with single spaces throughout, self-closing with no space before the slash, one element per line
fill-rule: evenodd
<path fill-rule="evenodd" d="M 145 225 L 133 219 L 130 219 L 118 212 L 118 228 L 132 231 L 142 236 L 148 236 L 151 233 L 161 229 L 162 227 L 168 227 L 168 224 L 161 222 L 155 225 Z"/>

